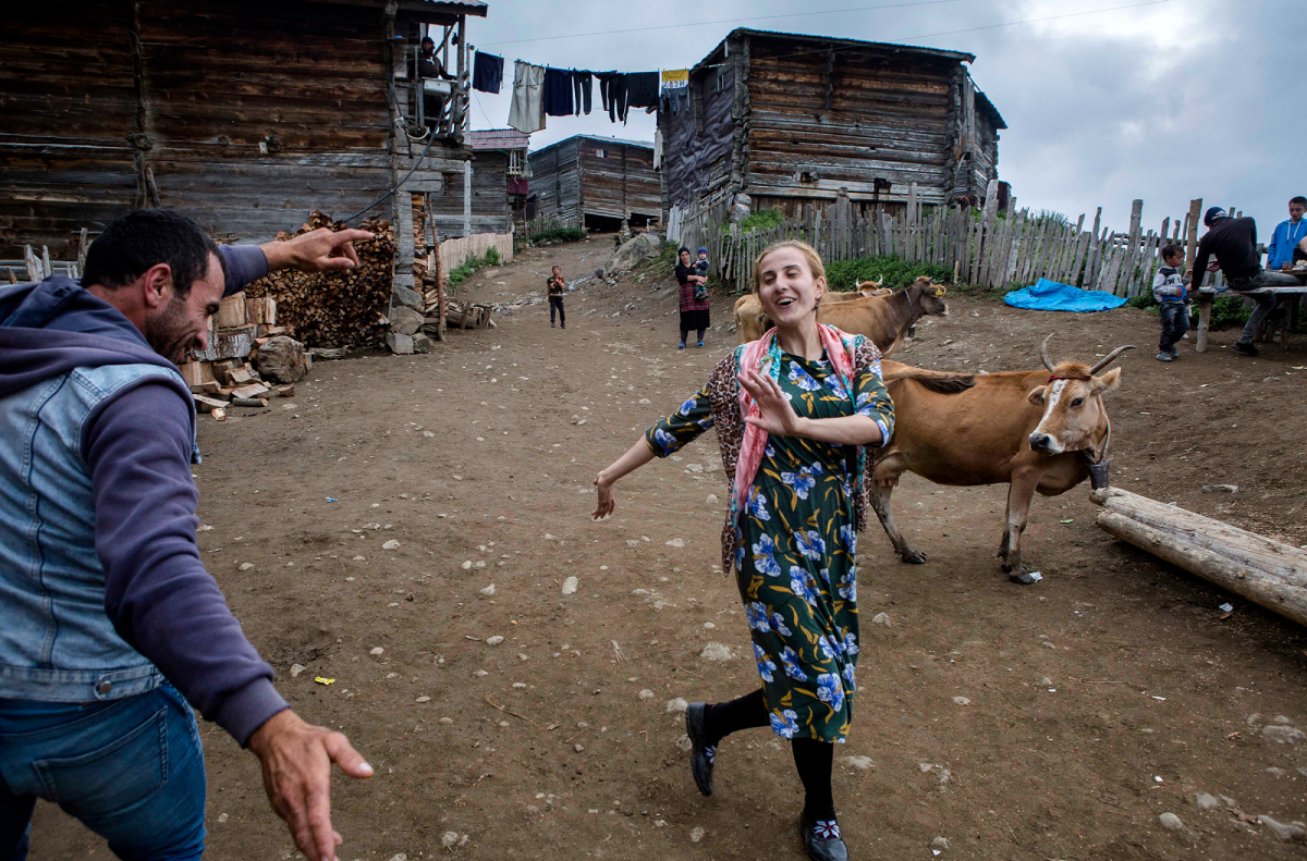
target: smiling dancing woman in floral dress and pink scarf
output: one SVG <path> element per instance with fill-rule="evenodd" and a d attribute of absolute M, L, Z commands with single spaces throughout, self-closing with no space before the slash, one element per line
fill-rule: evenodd
<path fill-rule="evenodd" d="M 826 276 L 810 246 L 763 251 L 753 290 L 775 328 L 718 363 L 698 395 L 599 474 L 593 516 L 613 512 L 618 478 L 716 427 L 733 478 L 721 564 L 735 564 L 762 686 L 689 707 L 694 781 L 711 796 L 721 739 L 770 725 L 791 739 L 809 856 L 840 860 L 848 856 L 830 779 L 857 690 L 857 532 L 872 481 L 865 447 L 890 438 L 894 405 L 876 345 L 817 323 Z"/>

